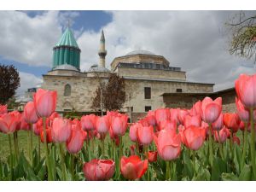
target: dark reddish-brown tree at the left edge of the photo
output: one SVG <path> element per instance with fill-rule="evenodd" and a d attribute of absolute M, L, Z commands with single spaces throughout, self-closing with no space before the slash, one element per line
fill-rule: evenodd
<path fill-rule="evenodd" d="M 15 96 L 15 91 L 20 86 L 20 76 L 13 66 L 0 65 L 0 104 L 5 104 L 9 98 Z"/>

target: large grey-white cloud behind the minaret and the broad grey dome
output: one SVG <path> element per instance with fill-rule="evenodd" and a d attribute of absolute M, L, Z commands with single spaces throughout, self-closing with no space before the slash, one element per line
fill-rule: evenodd
<path fill-rule="evenodd" d="M 214 90 L 233 86 L 241 67 L 250 61 L 228 52 L 224 23 L 232 11 L 113 11 L 113 21 L 103 26 L 108 67 L 113 58 L 134 49 L 164 55 L 172 66 L 182 67 L 190 81 L 215 83 Z M 82 68 L 97 62 L 100 32 L 84 32 L 78 39 Z M 234 75 L 236 73 L 236 75 Z"/>

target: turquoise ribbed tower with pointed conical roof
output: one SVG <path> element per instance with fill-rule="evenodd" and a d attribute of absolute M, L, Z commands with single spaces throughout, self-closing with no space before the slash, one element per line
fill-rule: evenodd
<path fill-rule="evenodd" d="M 53 49 L 53 69 L 67 64 L 80 70 L 80 52 L 79 45 L 73 37 L 73 32 L 67 27 Z"/>

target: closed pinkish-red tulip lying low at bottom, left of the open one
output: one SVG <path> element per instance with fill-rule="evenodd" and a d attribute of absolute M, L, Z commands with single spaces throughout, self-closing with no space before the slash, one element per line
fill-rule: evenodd
<path fill-rule="evenodd" d="M 84 177 L 88 181 L 106 181 L 113 177 L 114 167 L 113 160 L 90 160 L 84 163 Z"/>

